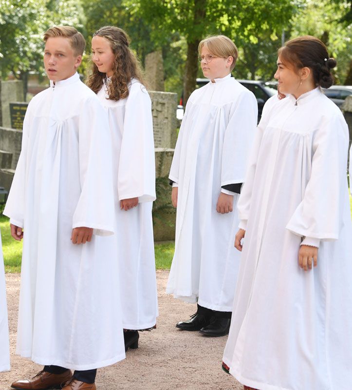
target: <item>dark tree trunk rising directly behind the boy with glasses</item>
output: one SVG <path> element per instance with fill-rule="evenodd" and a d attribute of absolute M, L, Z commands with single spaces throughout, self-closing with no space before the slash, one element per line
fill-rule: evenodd
<path fill-rule="evenodd" d="M 194 0 L 193 10 L 193 26 L 199 29 L 199 26 L 206 22 L 206 2 L 207 0 Z M 201 31 L 201 30 L 200 30 Z M 201 33 L 200 33 L 201 34 Z M 185 107 L 189 95 L 196 87 L 197 72 L 198 72 L 198 45 L 202 36 L 195 34 L 192 38 L 187 39 L 187 59 L 185 65 L 185 80 L 184 80 L 184 101 Z"/>

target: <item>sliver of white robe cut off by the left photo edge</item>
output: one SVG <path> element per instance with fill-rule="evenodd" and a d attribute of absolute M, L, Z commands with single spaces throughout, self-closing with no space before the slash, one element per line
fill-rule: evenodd
<path fill-rule="evenodd" d="M 0 236 L 0 372 L 10 370 L 9 327 L 7 321 L 6 286 Z"/>

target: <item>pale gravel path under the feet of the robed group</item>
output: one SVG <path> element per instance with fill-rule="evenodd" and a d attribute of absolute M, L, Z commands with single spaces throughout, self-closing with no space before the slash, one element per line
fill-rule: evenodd
<path fill-rule="evenodd" d="M 98 390 L 241 390 L 242 386 L 221 369 L 226 337 L 205 337 L 180 331 L 177 321 L 195 312 L 195 305 L 165 293 L 168 271 L 157 271 L 159 312 L 157 329 L 141 333 L 139 348 L 126 359 L 98 370 Z M 6 274 L 11 368 L 0 373 L 0 390 L 17 379 L 34 376 L 41 367 L 15 355 L 19 274 Z"/>

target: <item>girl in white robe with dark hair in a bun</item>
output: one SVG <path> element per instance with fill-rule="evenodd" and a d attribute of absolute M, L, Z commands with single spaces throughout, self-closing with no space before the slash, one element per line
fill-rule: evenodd
<path fill-rule="evenodd" d="M 264 106 L 238 201 L 241 264 L 223 368 L 245 389 L 351 389 L 349 132 L 320 90 L 335 65 L 315 37 L 278 51 L 285 98 Z"/>

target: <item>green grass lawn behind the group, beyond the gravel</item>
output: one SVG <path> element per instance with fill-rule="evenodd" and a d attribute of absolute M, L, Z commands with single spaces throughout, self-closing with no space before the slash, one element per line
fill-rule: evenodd
<path fill-rule="evenodd" d="M 352 196 L 350 195 L 351 214 Z M 15 241 L 10 234 L 9 219 L 0 216 L 2 251 L 4 255 L 5 272 L 16 273 L 21 271 L 22 242 Z M 175 250 L 174 242 L 155 244 L 155 267 L 157 270 L 169 270 Z"/>

